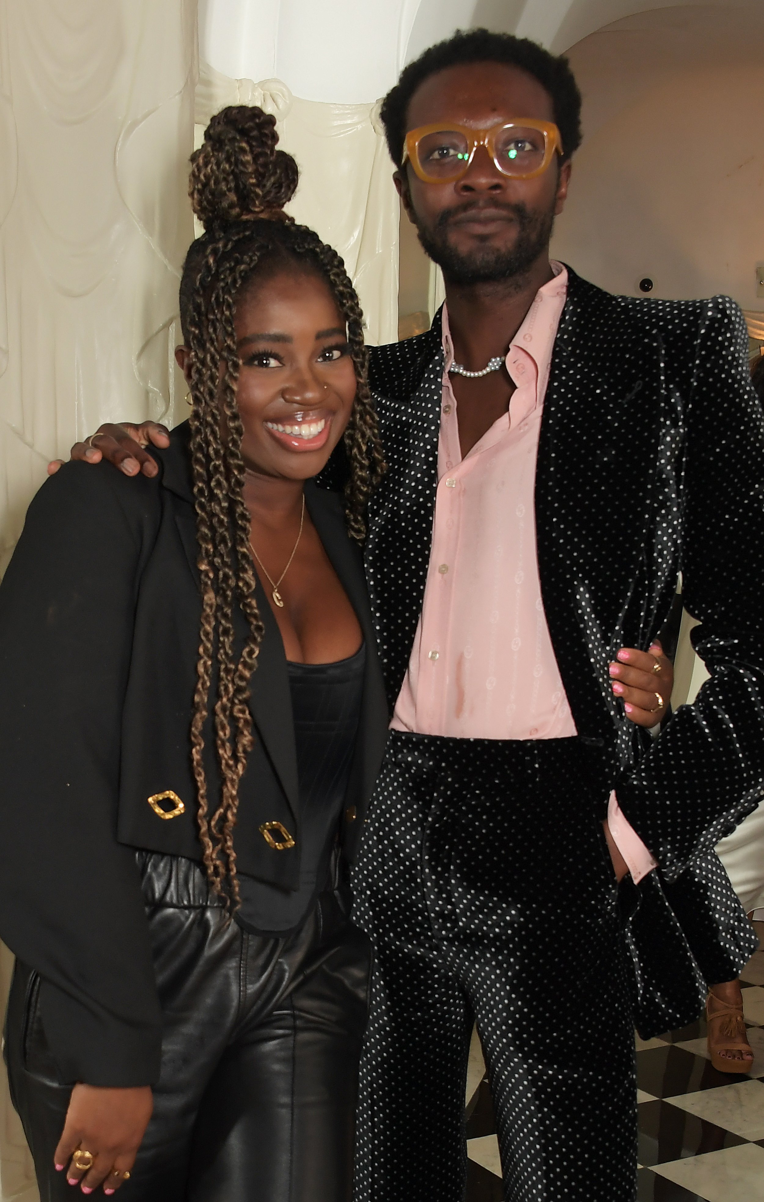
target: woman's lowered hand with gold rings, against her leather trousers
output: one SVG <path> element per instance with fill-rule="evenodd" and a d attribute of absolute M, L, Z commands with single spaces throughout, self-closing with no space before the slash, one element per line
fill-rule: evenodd
<path fill-rule="evenodd" d="M 55 1167 L 62 1172 L 68 1165 L 66 1179 L 70 1185 L 79 1184 L 83 1194 L 92 1194 L 101 1183 L 105 1194 L 113 1194 L 133 1166 L 153 1107 L 150 1085 L 74 1085 L 55 1149 Z M 78 1150 L 92 1154 L 90 1168 L 77 1168 Z"/>

